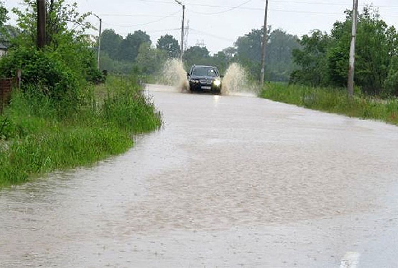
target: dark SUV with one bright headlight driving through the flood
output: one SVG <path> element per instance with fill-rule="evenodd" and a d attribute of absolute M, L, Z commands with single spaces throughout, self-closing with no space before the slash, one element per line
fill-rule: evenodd
<path fill-rule="evenodd" d="M 188 72 L 189 90 L 220 93 L 222 77 L 216 67 L 193 65 Z"/>

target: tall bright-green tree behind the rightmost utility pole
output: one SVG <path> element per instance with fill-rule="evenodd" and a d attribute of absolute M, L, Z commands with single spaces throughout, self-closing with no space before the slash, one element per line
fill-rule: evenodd
<path fill-rule="evenodd" d="M 335 45 L 328 54 L 330 83 L 345 86 L 349 62 L 352 14 L 347 11 L 344 22 L 332 29 Z M 355 82 L 365 93 L 380 94 L 388 76 L 392 57 L 396 54 L 396 31 L 380 20 L 377 12 L 365 7 L 358 17 Z"/>

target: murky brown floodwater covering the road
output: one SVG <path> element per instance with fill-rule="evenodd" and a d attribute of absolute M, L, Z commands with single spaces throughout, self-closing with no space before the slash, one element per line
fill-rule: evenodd
<path fill-rule="evenodd" d="M 398 128 L 149 86 L 165 126 L 0 192 L 0 267 L 397 267 Z"/>

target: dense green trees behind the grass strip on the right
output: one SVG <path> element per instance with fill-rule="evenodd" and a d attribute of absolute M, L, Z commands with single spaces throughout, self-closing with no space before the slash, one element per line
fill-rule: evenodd
<path fill-rule="evenodd" d="M 351 12 L 345 21 L 336 22 L 330 34 L 313 31 L 300 41 L 301 50 L 293 57 L 299 70 L 291 82 L 313 86 L 347 84 L 351 41 Z M 398 33 L 366 7 L 357 27 L 355 83 L 364 93 L 398 96 Z"/>

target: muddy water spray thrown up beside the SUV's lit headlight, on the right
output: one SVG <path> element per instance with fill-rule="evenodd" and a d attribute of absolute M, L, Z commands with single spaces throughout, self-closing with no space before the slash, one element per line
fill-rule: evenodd
<path fill-rule="evenodd" d="M 247 73 L 244 68 L 237 63 L 232 63 L 222 79 L 221 94 L 230 95 L 246 91 L 247 82 Z"/>

